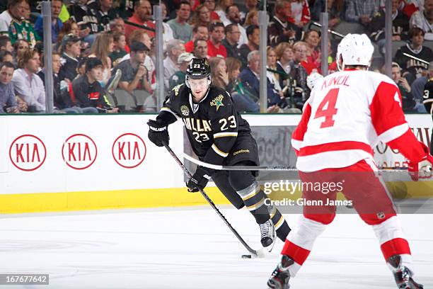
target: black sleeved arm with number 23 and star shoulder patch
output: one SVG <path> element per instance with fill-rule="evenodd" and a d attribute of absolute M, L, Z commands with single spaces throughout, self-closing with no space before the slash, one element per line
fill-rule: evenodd
<path fill-rule="evenodd" d="M 214 143 L 204 156 L 204 162 L 222 164 L 238 137 L 238 114 L 229 93 L 224 92 L 212 98 L 209 120 Z"/>

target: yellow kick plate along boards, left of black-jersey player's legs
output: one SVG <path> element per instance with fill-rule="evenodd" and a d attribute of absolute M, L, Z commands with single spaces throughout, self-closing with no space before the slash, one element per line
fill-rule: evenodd
<path fill-rule="evenodd" d="M 229 204 L 216 187 L 206 188 L 206 193 L 216 204 Z M 205 204 L 207 201 L 200 193 L 190 193 L 186 188 L 0 194 L 0 214 L 183 207 Z"/>

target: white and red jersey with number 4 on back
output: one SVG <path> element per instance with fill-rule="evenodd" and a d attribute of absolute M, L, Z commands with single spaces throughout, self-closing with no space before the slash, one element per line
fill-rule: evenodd
<path fill-rule="evenodd" d="M 315 84 L 291 145 L 300 171 L 318 171 L 373 159 L 372 148 L 379 141 L 387 143 L 403 135 L 405 142 L 411 142 L 403 145 L 418 149 L 415 136 L 407 134 L 412 132 L 396 84 L 383 74 L 348 69 Z M 422 157 L 417 154 L 421 152 L 411 151 L 405 157 Z"/>

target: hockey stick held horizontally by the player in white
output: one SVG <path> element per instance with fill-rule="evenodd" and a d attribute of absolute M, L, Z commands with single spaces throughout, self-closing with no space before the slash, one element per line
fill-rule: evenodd
<path fill-rule="evenodd" d="M 199 166 L 204 166 L 209 169 L 217 169 L 220 171 L 299 171 L 294 166 L 218 166 L 216 164 L 209 164 L 207 162 L 202 162 L 198 159 L 183 154 L 183 157 L 188 161 L 198 164 Z M 379 167 L 380 171 L 407 171 L 408 168 L 404 166 L 394 166 L 394 167 Z"/>

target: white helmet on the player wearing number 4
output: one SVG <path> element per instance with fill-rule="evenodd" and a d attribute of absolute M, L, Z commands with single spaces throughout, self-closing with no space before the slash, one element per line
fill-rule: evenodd
<path fill-rule="evenodd" d="M 370 66 L 374 47 L 369 37 L 365 34 L 347 34 L 337 47 L 337 67 L 344 69 L 345 65 Z M 343 67 L 340 67 L 342 58 Z"/>

